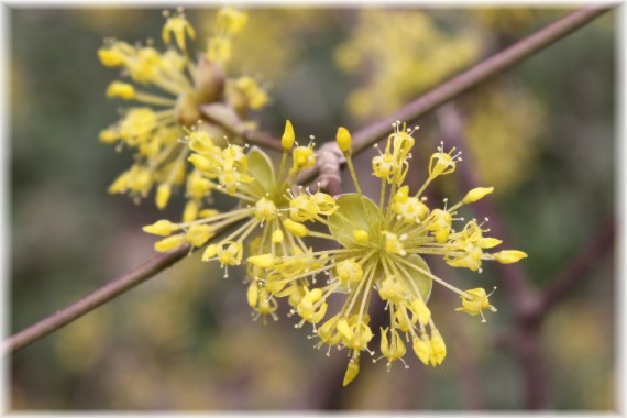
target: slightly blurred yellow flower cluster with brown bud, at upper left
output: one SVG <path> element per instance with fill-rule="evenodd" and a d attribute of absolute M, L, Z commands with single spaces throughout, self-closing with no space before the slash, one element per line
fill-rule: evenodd
<path fill-rule="evenodd" d="M 105 66 L 121 68 L 121 75 L 132 81 L 111 82 L 107 96 L 139 103 L 100 132 L 101 141 L 118 144 L 118 150 L 127 146 L 135 152 L 135 163 L 113 182 L 109 191 L 128 193 L 139 200 L 157 186 L 155 199 L 160 209 L 167 206 L 173 187 L 183 185 L 186 178 L 188 197 L 194 200 L 198 195 L 197 176 L 188 176 L 189 148 L 179 141 L 186 132 L 194 127 L 213 138 L 229 134 L 237 141 L 238 133 L 254 128 L 253 123 L 244 122 L 249 110 L 261 109 L 268 102 L 267 94 L 253 78 L 232 79 L 224 74 L 231 57 L 231 38 L 244 29 L 245 13 L 221 9 L 215 35 L 197 62 L 193 61 L 188 45 L 196 31 L 183 10 L 164 14 L 162 37 L 167 46 L 164 52 L 152 42 L 131 45 L 118 40 L 106 40 L 98 51 Z M 224 116 L 229 117 L 230 125 L 224 123 Z"/>

